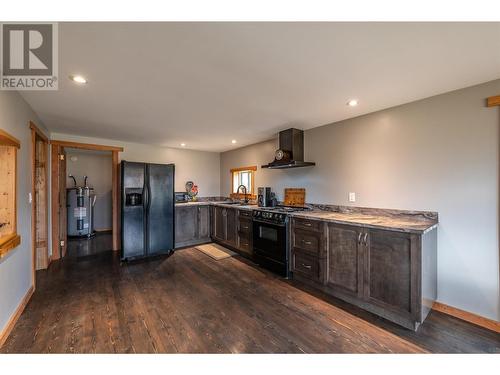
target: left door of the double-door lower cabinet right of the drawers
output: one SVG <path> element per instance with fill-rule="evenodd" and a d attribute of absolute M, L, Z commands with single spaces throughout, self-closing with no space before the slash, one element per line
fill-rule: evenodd
<path fill-rule="evenodd" d="M 364 233 L 349 225 L 328 224 L 325 283 L 328 287 L 362 297 Z"/>

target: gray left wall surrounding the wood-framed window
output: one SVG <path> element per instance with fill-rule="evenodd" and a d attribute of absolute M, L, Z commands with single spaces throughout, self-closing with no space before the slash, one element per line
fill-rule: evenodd
<path fill-rule="evenodd" d="M 45 130 L 17 92 L 0 91 L 0 129 L 21 141 L 17 155 L 17 232 L 21 245 L 0 259 L 0 332 L 32 285 L 31 205 L 28 201 L 31 192 L 30 120 Z"/>

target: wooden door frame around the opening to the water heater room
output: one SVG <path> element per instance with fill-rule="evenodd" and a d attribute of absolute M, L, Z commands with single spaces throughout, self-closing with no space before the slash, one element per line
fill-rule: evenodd
<path fill-rule="evenodd" d="M 59 155 L 65 148 L 78 148 L 82 150 L 111 151 L 112 160 L 112 215 L 113 215 L 113 250 L 120 249 L 120 221 L 119 221 L 119 152 L 123 152 L 123 147 L 97 145 L 91 143 L 69 142 L 51 140 L 51 212 L 52 212 L 52 259 L 61 258 L 59 243 Z M 55 225 L 57 224 L 57 225 Z"/>

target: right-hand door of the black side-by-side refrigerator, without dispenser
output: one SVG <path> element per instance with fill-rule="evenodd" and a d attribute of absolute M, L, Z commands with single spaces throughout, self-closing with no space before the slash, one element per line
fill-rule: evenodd
<path fill-rule="evenodd" d="M 148 254 L 174 248 L 174 165 L 147 164 Z"/>

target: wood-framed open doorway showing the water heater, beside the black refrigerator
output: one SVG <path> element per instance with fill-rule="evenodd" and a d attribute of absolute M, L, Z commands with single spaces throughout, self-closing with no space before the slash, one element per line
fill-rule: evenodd
<path fill-rule="evenodd" d="M 51 145 L 53 259 L 69 249 L 77 256 L 103 247 L 118 250 L 118 152 L 123 149 L 66 141 Z"/>

